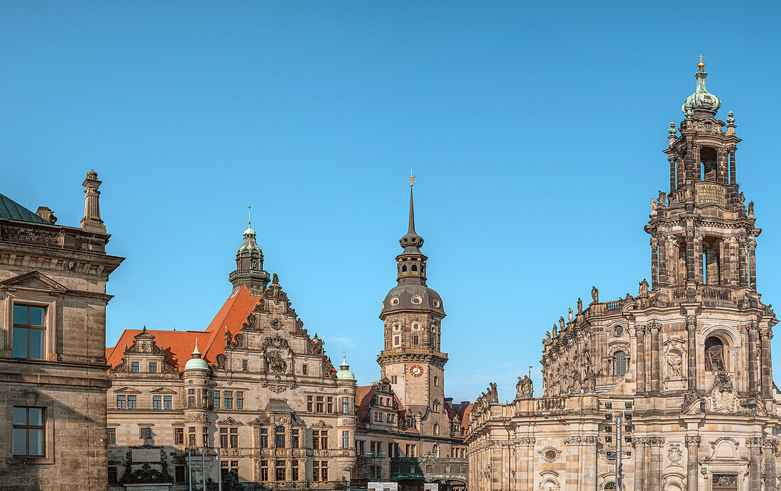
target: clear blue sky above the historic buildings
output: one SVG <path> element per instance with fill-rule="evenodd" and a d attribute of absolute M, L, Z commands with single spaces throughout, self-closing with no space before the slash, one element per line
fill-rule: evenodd
<path fill-rule="evenodd" d="M 735 111 L 759 290 L 781 305 L 779 16 L 778 2 L 0 2 L 0 192 L 78 225 L 98 171 L 109 252 L 127 257 L 109 344 L 205 329 L 252 205 L 266 269 L 368 384 L 414 168 L 448 395 L 496 381 L 512 399 L 528 365 L 539 391 L 540 340 L 577 297 L 650 276 L 643 226 L 699 53 L 719 116 Z"/>

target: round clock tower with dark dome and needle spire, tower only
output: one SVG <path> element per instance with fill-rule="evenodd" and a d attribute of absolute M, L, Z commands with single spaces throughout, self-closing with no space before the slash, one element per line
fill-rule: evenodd
<path fill-rule="evenodd" d="M 385 349 L 377 357 L 383 377 L 391 381 L 401 404 L 414 413 L 425 407 L 439 414 L 444 408 L 444 364 L 440 353 L 440 327 L 444 318 L 442 299 L 426 286 L 426 258 L 420 247 L 423 237 L 415 233 L 412 203 L 413 177 L 409 189 L 409 229 L 396 256 L 397 286 L 383 301 L 380 318 L 385 326 Z"/>

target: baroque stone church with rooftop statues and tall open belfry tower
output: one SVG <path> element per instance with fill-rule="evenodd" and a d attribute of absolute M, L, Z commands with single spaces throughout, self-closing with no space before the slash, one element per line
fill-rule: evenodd
<path fill-rule="evenodd" d="M 735 119 L 704 87 L 669 131 L 669 194 L 652 200 L 651 284 L 592 302 L 543 340 L 543 390 L 482 397 L 469 418 L 474 489 L 777 489 L 781 393 L 760 301 L 754 203 L 736 181 Z M 650 289 L 649 289 L 650 287 Z M 621 418 L 619 420 L 619 418 Z M 620 432 L 619 432 L 620 430 Z"/>

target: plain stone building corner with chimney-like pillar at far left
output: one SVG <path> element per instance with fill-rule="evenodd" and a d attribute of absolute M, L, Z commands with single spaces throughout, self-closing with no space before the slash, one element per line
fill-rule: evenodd
<path fill-rule="evenodd" d="M 0 195 L 0 489 L 106 489 L 106 254 L 94 172 L 80 227 Z"/>

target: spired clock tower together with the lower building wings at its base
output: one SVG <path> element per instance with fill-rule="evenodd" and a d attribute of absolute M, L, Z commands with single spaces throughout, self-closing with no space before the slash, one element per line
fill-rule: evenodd
<path fill-rule="evenodd" d="M 438 482 L 443 491 L 465 489 L 469 402 L 445 398 L 444 306 L 426 286 L 428 258 L 420 251 L 423 238 L 415 233 L 412 187 L 409 198 L 409 228 L 396 257 L 398 284 L 380 313 L 380 381 L 358 387 L 358 461 L 351 484 L 394 481 L 404 491 L 422 491 L 425 482 Z"/>

